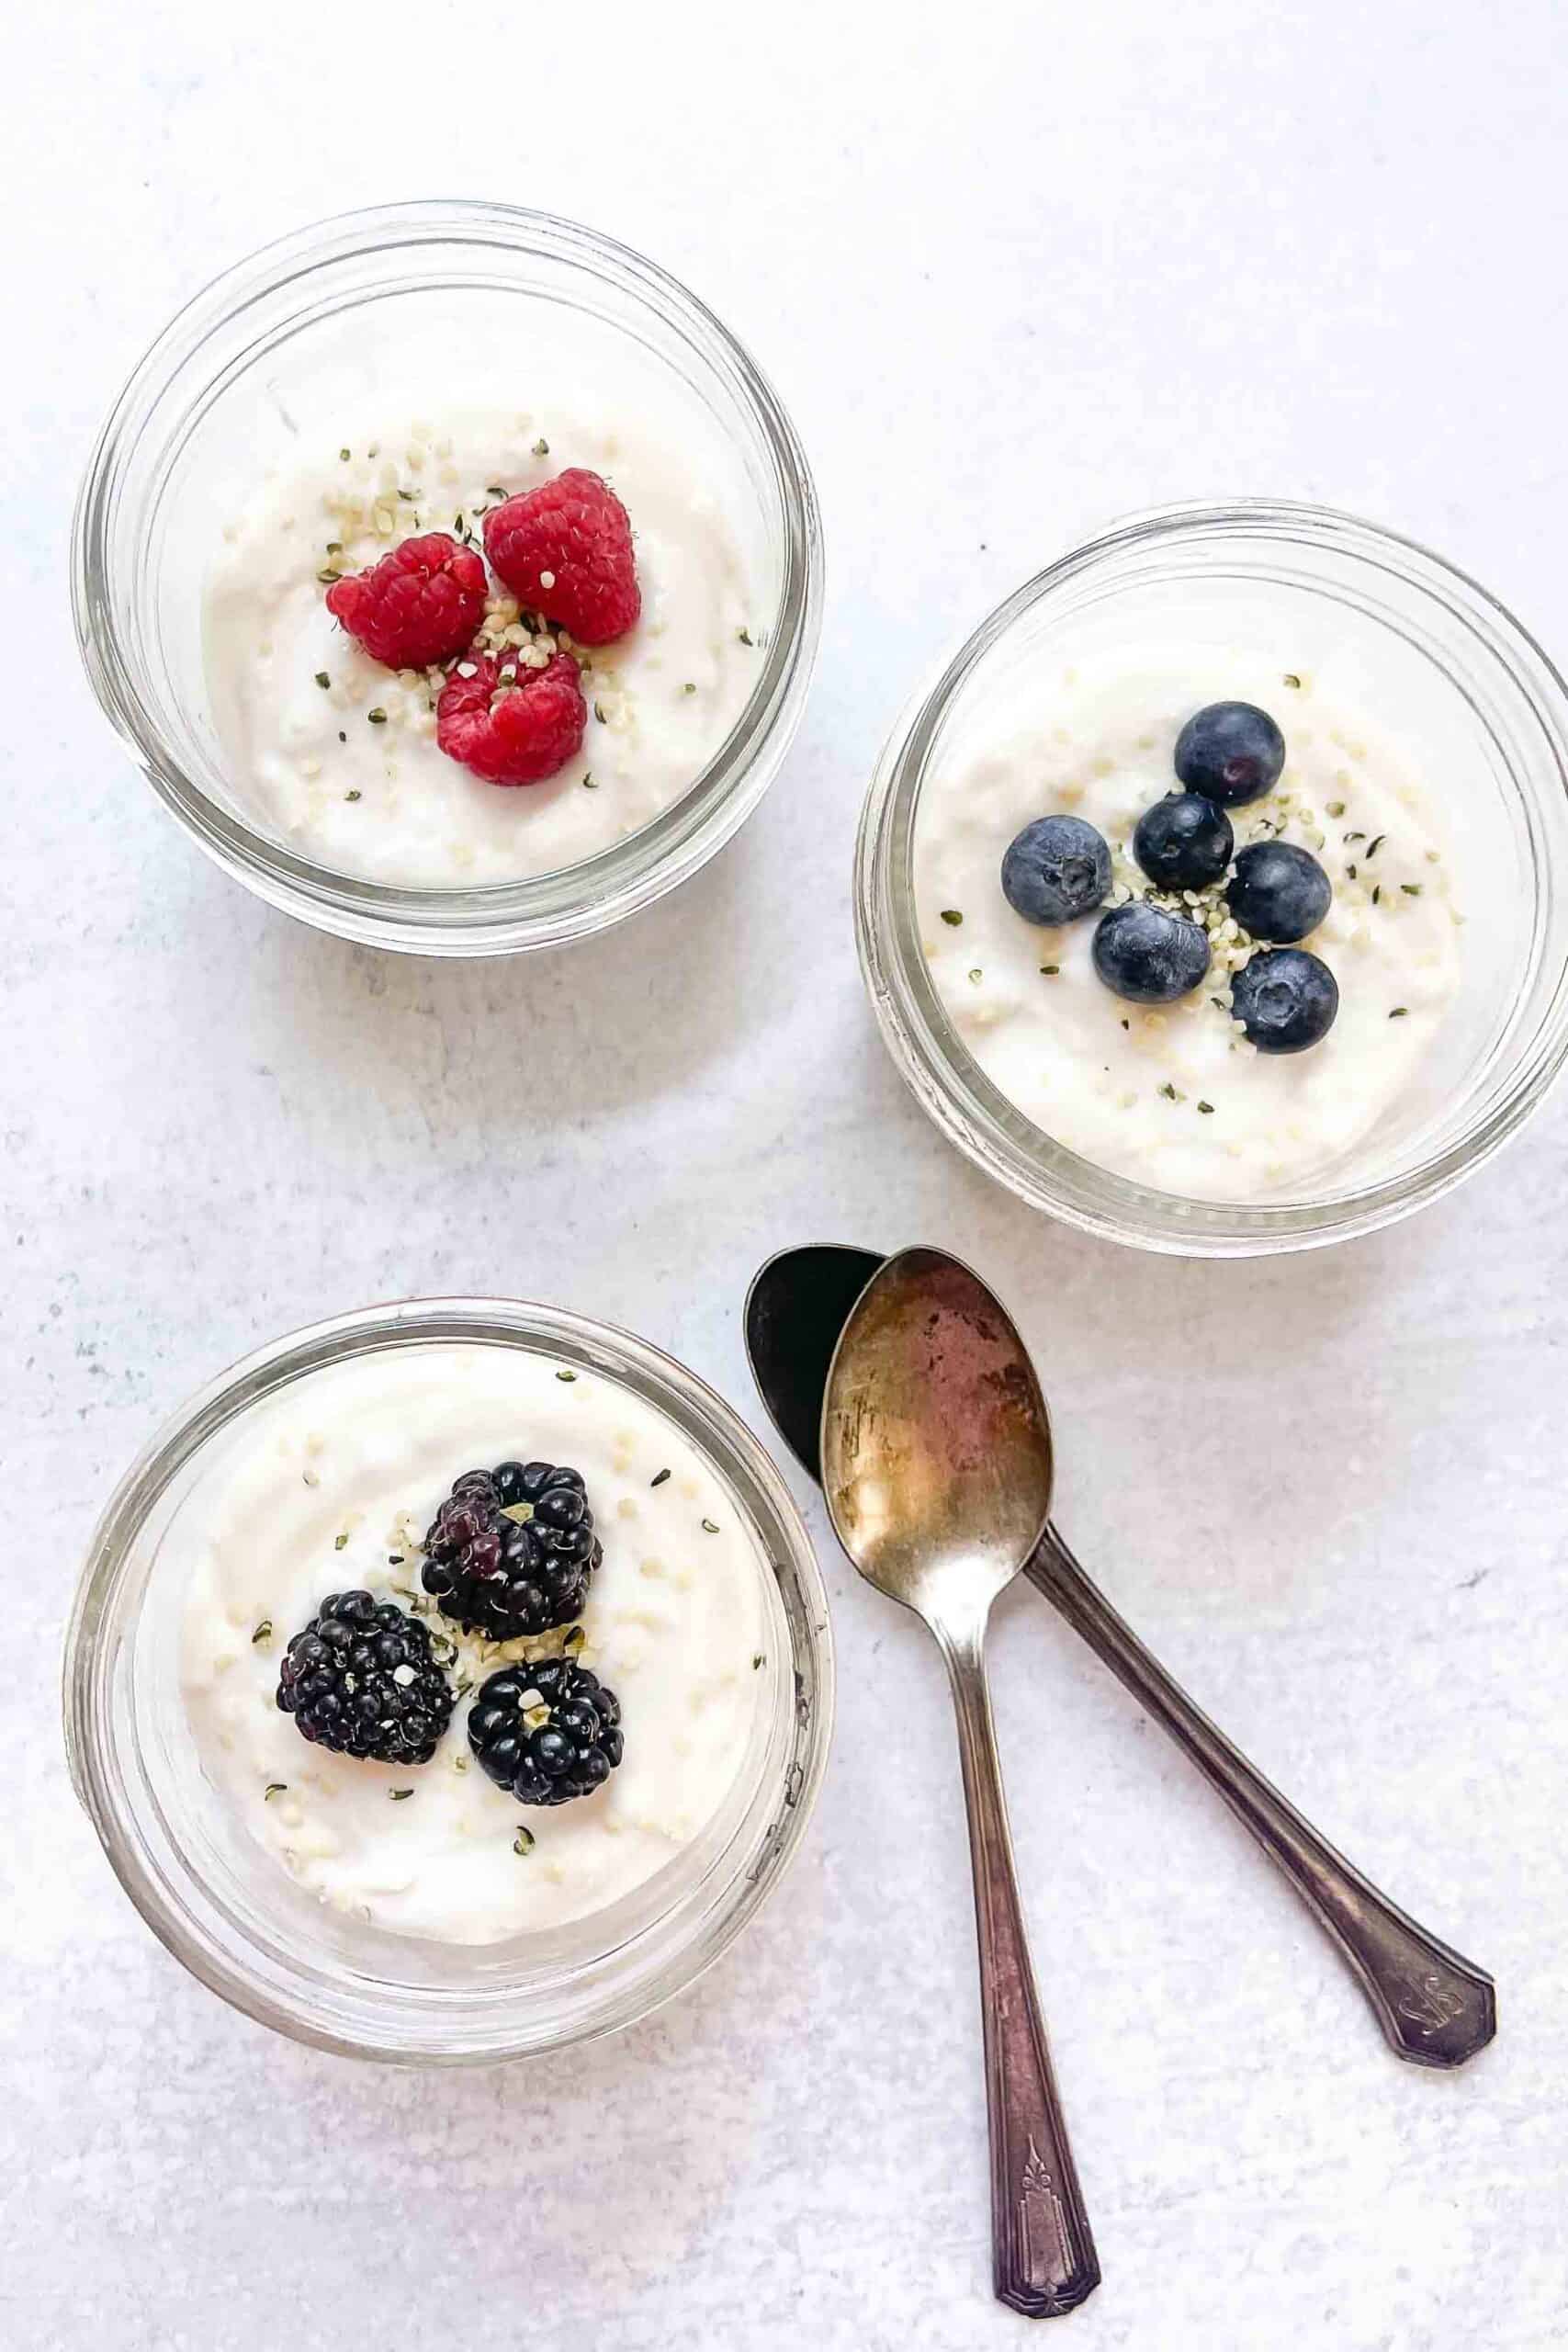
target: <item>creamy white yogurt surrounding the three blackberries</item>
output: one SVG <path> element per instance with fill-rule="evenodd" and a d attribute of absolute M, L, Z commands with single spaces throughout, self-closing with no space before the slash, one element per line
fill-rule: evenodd
<path fill-rule="evenodd" d="M 752 1748 L 771 1635 L 736 1498 L 654 1406 L 559 1371 L 480 1343 L 329 1367 L 256 1409 L 188 1505 L 181 1684 L 200 1766 L 301 1886 L 397 1933 L 491 1943 L 618 1900 L 701 1837 Z M 510 1458 L 571 1463 L 588 1482 L 604 1562 L 578 1656 L 621 1698 L 625 1731 L 604 1788 L 543 1809 L 484 1778 L 468 1696 L 423 1766 L 331 1755 L 275 1703 L 282 1651 L 327 1592 L 418 1595 L 433 1611 L 418 1538 L 461 1470 Z M 428 1623 L 475 1686 L 562 1642 L 489 1646 Z M 522 1828 L 534 1846 L 517 1853 Z"/>

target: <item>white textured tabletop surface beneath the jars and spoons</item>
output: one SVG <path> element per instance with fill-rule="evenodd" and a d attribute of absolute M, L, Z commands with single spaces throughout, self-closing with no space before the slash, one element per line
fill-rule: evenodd
<path fill-rule="evenodd" d="M 827 1552 L 842 1729 L 795 1877 L 696 1994 L 559 2063 L 397 2077 L 230 2016 L 129 1912 L 59 1757 L 89 1519 L 216 1364 L 496 1287 L 621 1317 L 750 1409 L 743 1284 L 827 1235 L 947 1242 L 1018 1303 L 1084 1557 L 1500 1983 L 1472 2070 L 1394 2065 L 1229 1818 L 1018 1595 L 1004 1757 L 1105 2263 L 1067 2340 L 1566 2340 L 1568 1098 L 1368 1244 L 1119 1256 L 926 1129 L 846 908 L 893 708 L 1107 513 L 1361 508 L 1563 652 L 1554 14 L 153 0 L 14 35 L 5 2343 L 1023 2343 L 987 2296 L 940 1670 Z M 106 400 L 200 280 L 329 209 L 491 191 L 646 247 L 757 346 L 832 583 L 799 748 L 717 866 L 597 946 L 440 969 L 294 929 L 183 844 L 78 680 L 63 550 Z"/>

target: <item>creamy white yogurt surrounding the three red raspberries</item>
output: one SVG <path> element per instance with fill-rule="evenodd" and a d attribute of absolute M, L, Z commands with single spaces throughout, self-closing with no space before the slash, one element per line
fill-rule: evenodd
<path fill-rule="evenodd" d="M 433 682 L 371 661 L 320 574 L 458 520 L 480 543 L 498 489 L 567 466 L 604 475 L 632 517 L 642 619 L 585 654 L 581 755 L 503 788 L 437 748 Z M 517 621 L 498 583 L 494 619 Z M 343 428 L 273 468 L 223 529 L 202 644 L 223 762 L 261 823 L 334 870 L 463 889 L 576 866 L 677 802 L 745 708 L 762 626 L 741 543 L 679 445 L 541 407 Z"/>

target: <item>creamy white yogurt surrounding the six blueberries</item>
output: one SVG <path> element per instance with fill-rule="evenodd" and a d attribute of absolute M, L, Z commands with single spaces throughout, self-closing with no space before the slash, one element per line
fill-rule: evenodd
<path fill-rule="evenodd" d="M 1058 809 L 1110 840 L 1107 906 L 1147 891 L 1133 828 L 1178 788 L 1175 736 L 1211 701 L 1258 703 L 1286 736 L 1276 790 L 1227 811 L 1237 849 L 1295 842 L 1333 884 L 1300 946 L 1333 971 L 1340 1011 L 1305 1054 L 1258 1054 L 1239 1035 L 1229 957 L 1246 946 L 1220 941 L 1194 995 L 1145 1009 L 1095 976 L 1095 915 L 1044 929 L 1001 894 L 1009 842 Z M 1095 659 L 1037 675 L 1025 706 L 1009 703 L 987 743 L 938 753 L 917 811 L 919 936 L 964 1044 L 1048 1136 L 1140 1183 L 1255 1200 L 1321 1178 L 1396 1110 L 1460 981 L 1443 837 L 1399 746 L 1248 649 Z"/>

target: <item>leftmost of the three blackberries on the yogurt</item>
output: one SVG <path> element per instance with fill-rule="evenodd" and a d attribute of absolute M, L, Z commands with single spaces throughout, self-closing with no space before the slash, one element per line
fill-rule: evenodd
<path fill-rule="evenodd" d="M 397 1602 L 329 1592 L 282 1656 L 277 1705 L 339 1755 L 428 1764 L 451 1722 L 451 1684 L 430 1628 Z"/>

